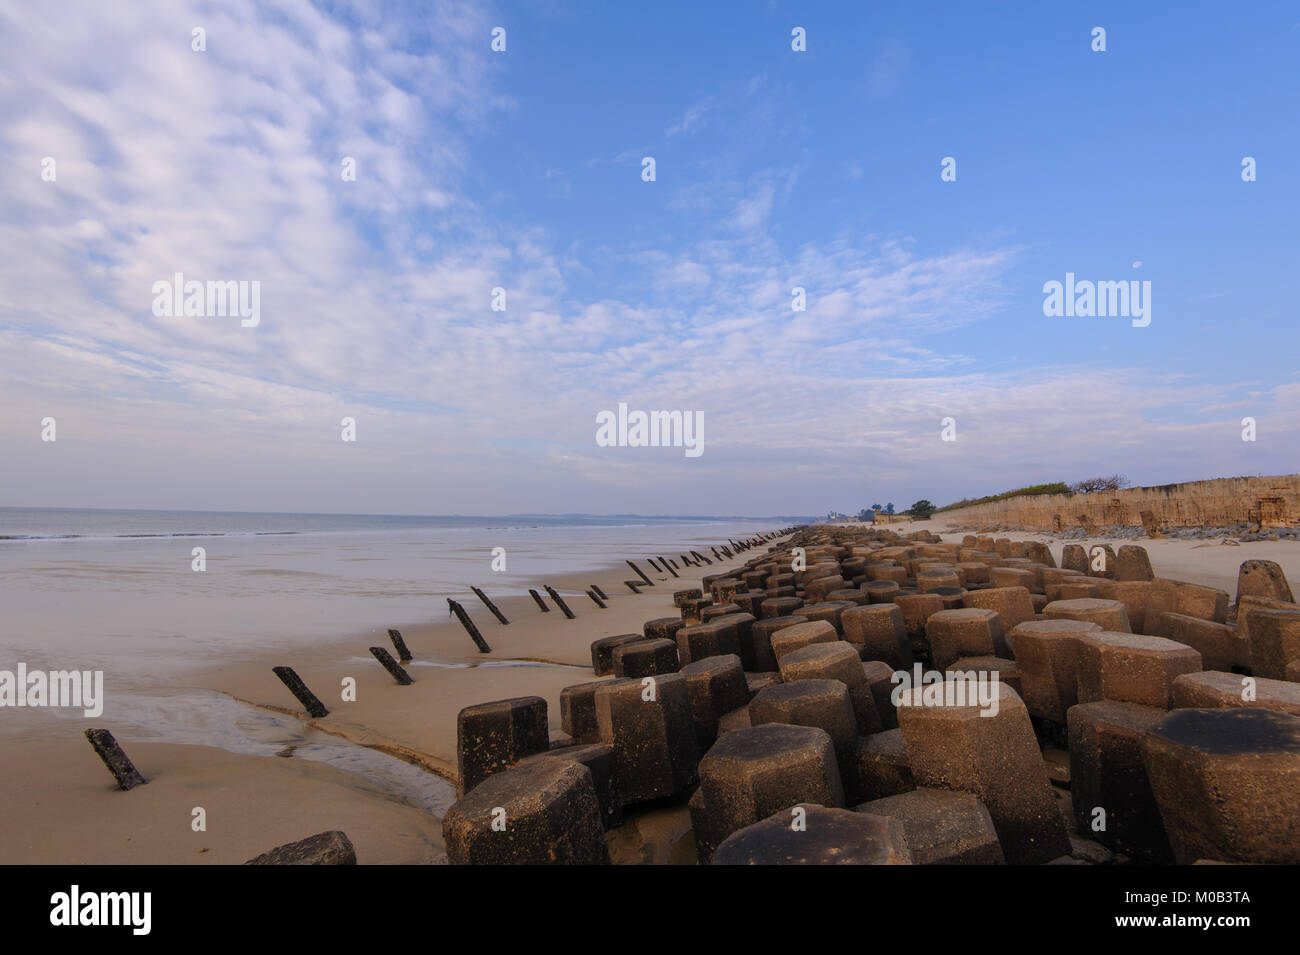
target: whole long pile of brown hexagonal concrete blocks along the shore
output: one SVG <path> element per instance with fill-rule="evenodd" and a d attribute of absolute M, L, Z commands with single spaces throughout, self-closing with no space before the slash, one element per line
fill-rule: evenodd
<path fill-rule="evenodd" d="M 541 698 L 462 712 L 450 861 L 607 863 L 677 807 L 712 864 L 1300 863 L 1270 561 L 1230 600 L 1138 546 L 819 526 L 675 605 L 593 643 L 560 738 Z"/>

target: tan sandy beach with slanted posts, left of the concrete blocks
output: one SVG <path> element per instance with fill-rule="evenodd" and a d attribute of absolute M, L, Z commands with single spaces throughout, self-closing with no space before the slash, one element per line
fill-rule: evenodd
<path fill-rule="evenodd" d="M 701 533 L 684 534 L 681 547 L 671 552 L 699 548 Z M 744 560 L 714 560 L 708 572 Z M 654 617 L 677 616 L 672 591 L 699 586 L 699 570 L 679 565 L 681 577 L 673 578 L 640 556 L 637 564 L 655 581 L 641 594 L 623 583 L 636 579 L 625 564 L 546 577 L 573 620 L 550 600 L 550 612 L 542 613 L 526 592 L 489 591 L 511 621 L 500 625 L 471 592 L 459 594 L 490 654 L 474 647 L 443 602 L 434 618 L 402 628 L 415 657 L 407 665 L 411 686 L 398 686 L 368 652 L 370 646 L 391 650 L 386 626 L 374 626 L 312 643 L 243 647 L 218 665 L 196 654 L 188 664 L 173 660 L 155 682 L 133 687 L 136 696 L 148 694 L 165 704 L 156 712 L 164 735 L 168 721 L 177 720 L 178 711 L 186 716 L 186 708 L 214 724 L 233 719 L 240 726 L 248 711 L 256 711 L 273 721 L 250 730 L 263 743 L 256 748 L 268 755 L 142 741 L 140 713 L 152 711 L 142 711 L 139 699 L 126 704 L 133 719 L 125 721 L 112 719 L 112 708 L 98 720 L 9 709 L 9 732 L 0 734 L 6 765 L 0 864 L 235 864 L 330 829 L 347 833 L 360 864 L 445 863 L 441 813 L 455 799 L 458 712 L 484 700 L 540 695 L 550 706 L 552 732 L 560 734 L 559 693 L 594 678 L 592 642 L 640 631 Z M 586 596 L 592 583 L 608 595 L 606 609 Z M 329 707 L 329 716 L 309 720 L 272 673 L 276 665 L 292 667 Z M 355 702 L 342 702 L 346 677 L 356 682 Z M 239 707 L 233 717 L 213 706 L 217 696 Z M 90 726 L 113 732 L 148 783 L 120 791 L 82 737 Z M 208 729 L 213 738 L 230 739 L 224 722 Z M 250 748 L 247 739 L 237 742 L 237 748 Z M 322 746 L 330 742 L 334 746 Z M 324 763 L 292 758 L 302 755 L 295 754 L 299 747 L 312 746 L 324 751 Z M 195 807 L 207 811 L 205 832 L 191 828 Z"/>

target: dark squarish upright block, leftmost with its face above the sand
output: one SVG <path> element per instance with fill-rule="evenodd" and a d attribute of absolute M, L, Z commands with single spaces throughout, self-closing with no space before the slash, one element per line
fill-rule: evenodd
<path fill-rule="evenodd" d="M 546 700 L 516 696 L 465 707 L 456 716 L 456 786 L 471 793 L 493 773 L 551 743 Z"/>

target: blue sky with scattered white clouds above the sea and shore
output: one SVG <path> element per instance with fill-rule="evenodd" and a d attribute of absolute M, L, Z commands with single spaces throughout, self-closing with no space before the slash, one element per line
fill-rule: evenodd
<path fill-rule="evenodd" d="M 1297 469 L 1294 3 L 0 0 L 0 62 L 4 505 Z M 257 282 L 257 324 L 156 314 L 176 273 Z M 1067 273 L 1149 282 L 1149 325 L 1044 314 Z M 703 452 L 602 446 L 619 403 Z"/>

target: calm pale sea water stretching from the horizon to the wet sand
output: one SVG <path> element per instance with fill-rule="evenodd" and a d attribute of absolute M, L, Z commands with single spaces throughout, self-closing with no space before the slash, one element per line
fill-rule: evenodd
<path fill-rule="evenodd" d="M 776 526 L 0 508 L 0 669 L 23 660 L 103 669 L 118 689 L 156 686 L 254 647 L 441 618 L 445 598 L 471 585 L 521 594 L 560 574 Z M 196 547 L 203 572 L 192 569 Z M 497 547 L 504 572 L 491 567 Z"/>

